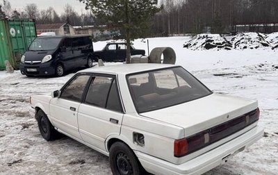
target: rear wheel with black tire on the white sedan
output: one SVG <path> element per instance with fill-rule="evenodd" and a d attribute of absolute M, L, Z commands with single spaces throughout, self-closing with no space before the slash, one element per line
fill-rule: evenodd
<path fill-rule="evenodd" d="M 115 142 L 109 150 L 109 163 L 114 175 L 145 174 L 138 158 L 123 142 Z"/>

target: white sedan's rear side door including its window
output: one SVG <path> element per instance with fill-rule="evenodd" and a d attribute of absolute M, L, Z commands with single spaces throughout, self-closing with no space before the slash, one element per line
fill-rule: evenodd
<path fill-rule="evenodd" d="M 122 104 L 115 76 L 93 76 L 84 103 L 79 106 L 81 137 L 95 149 L 106 151 L 109 135 L 120 135 Z"/>

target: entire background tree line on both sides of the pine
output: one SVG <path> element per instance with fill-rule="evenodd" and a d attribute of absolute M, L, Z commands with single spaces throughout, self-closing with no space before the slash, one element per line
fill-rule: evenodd
<path fill-rule="evenodd" d="M 277 0 L 161 0 L 158 2 L 158 6 L 163 5 L 163 8 L 148 22 L 147 26 L 150 26 L 150 29 L 144 34 L 146 36 L 204 32 L 229 33 L 233 32 L 234 26 L 238 24 L 278 23 Z M 54 8 L 39 10 L 35 3 L 26 4 L 22 12 L 18 12 L 11 10 L 8 0 L 1 0 L 0 18 L 4 17 L 35 19 L 37 24 L 61 22 L 68 22 L 72 26 L 108 24 L 105 18 L 97 17 L 92 10 L 81 12 L 79 15 L 69 4 L 66 4 L 64 12 L 58 15 Z"/>

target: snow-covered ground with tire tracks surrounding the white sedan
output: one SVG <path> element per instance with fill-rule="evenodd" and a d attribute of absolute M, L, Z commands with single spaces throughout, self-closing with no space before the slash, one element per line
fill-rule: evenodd
<path fill-rule="evenodd" d="M 206 175 L 277 174 L 278 49 L 192 51 L 183 48 L 189 39 L 150 38 L 150 51 L 172 47 L 177 64 L 214 92 L 258 99 L 259 125 L 265 128 L 261 140 Z M 95 50 L 105 44 L 94 43 Z M 135 40 L 134 47 L 147 53 L 147 40 Z M 67 137 L 45 141 L 28 113 L 30 95 L 58 90 L 72 75 L 27 78 L 19 71 L 0 72 L 0 174 L 111 174 L 108 158 L 101 153 Z"/>

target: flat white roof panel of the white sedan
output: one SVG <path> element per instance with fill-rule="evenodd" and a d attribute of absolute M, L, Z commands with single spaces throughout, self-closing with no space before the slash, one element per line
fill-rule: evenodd
<path fill-rule="evenodd" d="M 145 72 L 152 69 L 163 69 L 167 67 L 177 67 L 179 65 L 168 65 L 168 64 L 154 64 L 154 63 L 133 63 L 133 64 L 122 64 L 122 65 L 108 65 L 103 67 L 92 67 L 85 69 L 80 72 L 88 73 L 101 73 L 101 74 L 133 74 L 136 72 Z"/>

